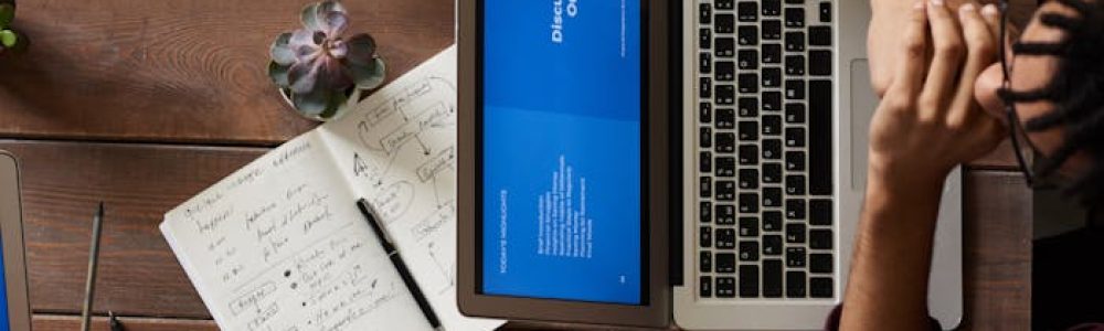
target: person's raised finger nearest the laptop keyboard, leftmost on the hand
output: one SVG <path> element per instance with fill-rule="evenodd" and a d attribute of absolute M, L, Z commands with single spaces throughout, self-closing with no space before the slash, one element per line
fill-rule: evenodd
<path fill-rule="evenodd" d="M 887 95 L 893 95 L 906 102 L 913 102 L 920 93 L 924 79 L 924 64 L 927 56 L 927 13 L 923 1 L 917 1 L 912 9 L 904 32 L 901 57 L 898 58 L 893 83 Z"/>

